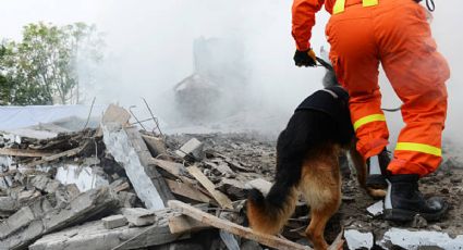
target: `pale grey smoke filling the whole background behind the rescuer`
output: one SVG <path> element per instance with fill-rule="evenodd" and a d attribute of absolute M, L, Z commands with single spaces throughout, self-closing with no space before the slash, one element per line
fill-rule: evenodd
<path fill-rule="evenodd" d="M 463 80 L 463 33 L 459 13 L 463 3 L 446 0 L 437 3 L 432 32 L 439 51 L 448 59 L 452 76 L 448 82 L 449 114 L 444 136 L 462 141 L 459 123 L 463 121 L 461 98 Z M 65 24 L 95 23 L 106 34 L 106 60 L 97 71 L 97 86 L 87 96 L 97 103 L 119 102 L 124 107 L 139 105 L 147 99 L 156 114 L 175 112 L 171 103 L 172 87 L 193 71 L 193 41 L 198 37 L 230 38 L 244 45 L 246 70 L 249 71 L 247 104 L 260 115 L 281 116 L 275 129 L 285 125 L 285 118 L 306 96 L 321 87 L 321 67 L 298 68 L 293 65 L 294 41 L 291 37 L 292 1 L 279 0 L 15 0 L 2 2 L 0 35 L 19 37 L 21 26 L 37 21 Z M 17 15 L 17 13 L 22 13 Z M 329 15 L 320 11 L 313 30 L 314 48 L 328 47 L 325 24 Z M 233 49 L 223 50 L 233 55 Z M 400 105 L 381 73 L 383 107 Z M 88 98 L 92 100 L 92 98 Z M 253 107 L 247 107 L 253 105 Z M 387 114 L 392 137 L 402 126 L 400 115 Z"/>

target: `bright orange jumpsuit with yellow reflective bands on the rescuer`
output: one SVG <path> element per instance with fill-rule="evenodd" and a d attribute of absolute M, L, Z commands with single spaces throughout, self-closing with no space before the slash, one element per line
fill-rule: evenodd
<path fill-rule="evenodd" d="M 341 1 L 341 0 L 338 0 Z M 375 0 L 374 0 L 375 1 Z M 315 13 L 325 3 L 333 13 L 336 0 L 294 0 L 292 35 L 298 50 L 310 48 Z M 388 166 L 392 174 L 434 172 L 441 162 L 441 134 L 447 115 L 444 82 L 450 70 L 437 52 L 426 11 L 413 0 L 345 0 L 326 27 L 330 60 L 339 82 L 350 93 L 357 150 L 367 159 L 388 145 L 381 111 L 378 67 L 381 63 L 402 100 L 402 128 Z"/>

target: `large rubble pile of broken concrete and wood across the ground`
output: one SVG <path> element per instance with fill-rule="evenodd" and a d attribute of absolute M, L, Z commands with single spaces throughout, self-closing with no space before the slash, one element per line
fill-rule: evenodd
<path fill-rule="evenodd" d="M 161 135 L 130 118 L 110 105 L 96 129 L 0 137 L 0 249 L 310 249 L 303 200 L 279 237 L 246 227 L 247 189 L 271 187 L 275 140 Z M 345 249 L 463 246 L 463 168 L 450 160 L 441 168 L 424 191 L 446 196 L 452 220 L 395 225 L 343 164 L 343 204 L 327 239 L 336 247 L 344 236 Z"/>

